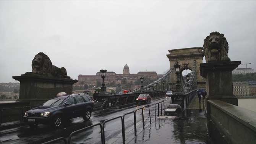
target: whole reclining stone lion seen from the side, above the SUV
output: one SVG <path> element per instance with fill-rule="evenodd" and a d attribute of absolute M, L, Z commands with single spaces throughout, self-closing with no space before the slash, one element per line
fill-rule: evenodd
<path fill-rule="evenodd" d="M 58 68 L 57 66 L 52 65 L 50 58 L 42 52 L 37 53 L 32 60 L 32 73 L 52 75 L 60 78 L 70 78 L 64 67 Z"/>

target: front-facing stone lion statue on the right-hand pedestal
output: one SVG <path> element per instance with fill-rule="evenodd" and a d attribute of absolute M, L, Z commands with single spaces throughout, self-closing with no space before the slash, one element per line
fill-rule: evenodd
<path fill-rule="evenodd" d="M 230 61 L 228 58 L 228 42 L 224 34 L 212 32 L 204 39 L 203 50 L 206 63 L 212 61 Z"/>

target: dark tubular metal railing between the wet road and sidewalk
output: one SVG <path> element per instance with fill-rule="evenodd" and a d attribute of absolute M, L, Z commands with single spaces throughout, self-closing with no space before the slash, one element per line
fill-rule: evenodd
<path fill-rule="evenodd" d="M 103 124 L 97 123 L 97 124 L 95 124 L 95 125 L 87 126 L 87 127 L 85 127 L 85 128 L 78 129 L 77 131 L 73 131 L 73 132 L 69 135 L 68 141 L 66 141 L 65 138 L 57 138 L 57 139 L 53 139 L 53 140 L 48 141 L 48 142 L 44 142 L 44 143 L 42 143 L 42 144 L 50 144 L 50 143 L 58 142 L 58 141 L 64 141 L 65 144 L 71 144 L 71 140 L 72 140 L 71 138 L 72 138 L 72 136 L 73 136 L 74 134 L 80 133 L 80 132 L 85 131 L 86 129 L 92 128 L 92 127 L 94 127 L 94 126 L 100 126 L 101 144 L 105 144 L 105 124 L 106 124 L 107 122 L 109 122 L 109 121 L 116 120 L 116 119 L 118 119 L 118 118 L 121 119 L 121 124 L 122 124 L 122 140 L 123 140 L 123 144 L 125 144 L 125 115 L 128 115 L 128 114 L 133 113 L 133 116 L 134 116 L 134 117 L 133 117 L 133 120 L 134 120 L 134 137 L 135 137 L 135 136 L 137 136 L 136 112 L 137 112 L 138 110 L 142 110 L 143 129 L 145 129 L 144 113 L 143 113 L 144 111 L 143 111 L 143 109 L 146 108 L 146 107 L 148 107 L 148 110 L 149 110 L 149 120 L 150 120 L 150 123 L 151 123 L 150 108 L 149 108 L 149 105 L 146 105 L 145 107 L 139 108 L 139 109 L 134 110 L 134 111 L 132 111 L 132 112 L 125 113 L 125 114 L 123 114 L 123 116 L 117 116 L 117 117 L 115 117 L 115 118 L 111 118 L 111 119 L 109 119 L 109 120 L 105 120 L 105 121 L 103 122 Z"/>

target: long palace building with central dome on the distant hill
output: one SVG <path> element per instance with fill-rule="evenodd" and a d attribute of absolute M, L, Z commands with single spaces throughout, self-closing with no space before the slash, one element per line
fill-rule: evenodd
<path fill-rule="evenodd" d="M 126 78 L 127 81 L 135 81 L 140 77 L 148 78 L 148 79 L 157 79 L 162 77 L 163 74 L 157 74 L 156 71 L 139 71 L 137 74 L 130 74 L 129 66 L 125 64 L 123 67 L 123 74 L 116 74 L 114 71 L 107 71 L 105 83 L 110 83 L 112 81 L 118 81 L 123 78 Z M 96 75 L 78 75 L 78 81 L 84 82 L 85 84 L 96 84 L 97 81 L 102 81 L 100 76 L 100 72 L 97 72 Z"/>

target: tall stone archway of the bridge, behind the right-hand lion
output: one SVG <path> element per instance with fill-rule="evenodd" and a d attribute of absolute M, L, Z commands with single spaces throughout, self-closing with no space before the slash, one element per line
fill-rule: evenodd
<path fill-rule="evenodd" d="M 199 88 L 205 87 L 205 84 L 206 84 L 203 77 L 200 75 L 200 63 L 203 63 L 203 57 L 204 57 L 204 51 L 202 50 L 203 50 L 203 47 L 174 49 L 174 50 L 169 50 L 170 54 L 166 55 L 170 61 L 170 68 L 172 68 L 176 62 L 178 62 L 178 64 L 181 65 L 180 66 L 181 72 L 186 69 L 192 70 L 193 66 L 195 65 L 197 86 Z M 171 74 L 171 81 L 173 83 L 177 81 L 177 76 L 175 72 Z"/>

